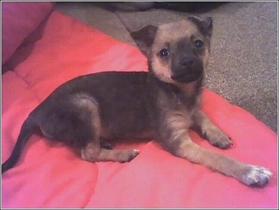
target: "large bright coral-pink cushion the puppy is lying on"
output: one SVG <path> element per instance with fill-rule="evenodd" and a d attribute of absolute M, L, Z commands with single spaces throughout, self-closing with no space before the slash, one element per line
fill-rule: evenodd
<path fill-rule="evenodd" d="M 3 75 L 2 161 L 22 122 L 54 88 L 77 75 L 105 70 L 146 70 L 146 59 L 72 17 L 54 12 L 29 57 Z M 32 135 L 20 162 L 2 176 L 3 208 L 276 208 L 277 135 L 249 112 L 204 89 L 202 108 L 232 137 L 220 150 L 191 131 L 193 140 L 218 153 L 274 173 L 265 188 L 176 158 L 155 141 L 119 144 L 140 149 L 130 163 L 88 163 L 63 144 Z"/>

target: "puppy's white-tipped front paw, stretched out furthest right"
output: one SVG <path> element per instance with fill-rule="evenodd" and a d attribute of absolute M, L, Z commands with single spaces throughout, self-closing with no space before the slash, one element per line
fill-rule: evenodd
<path fill-rule="evenodd" d="M 269 182 L 272 172 L 257 165 L 247 165 L 246 170 L 240 175 L 239 180 L 248 186 L 263 187 Z"/>

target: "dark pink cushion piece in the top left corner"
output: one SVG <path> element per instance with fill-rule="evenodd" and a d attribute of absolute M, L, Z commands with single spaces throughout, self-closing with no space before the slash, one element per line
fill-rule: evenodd
<path fill-rule="evenodd" d="M 24 38 L 38 27 L 52 10 L 51 2 L 3 2 L 2 64 L 10 59 Z"/>

